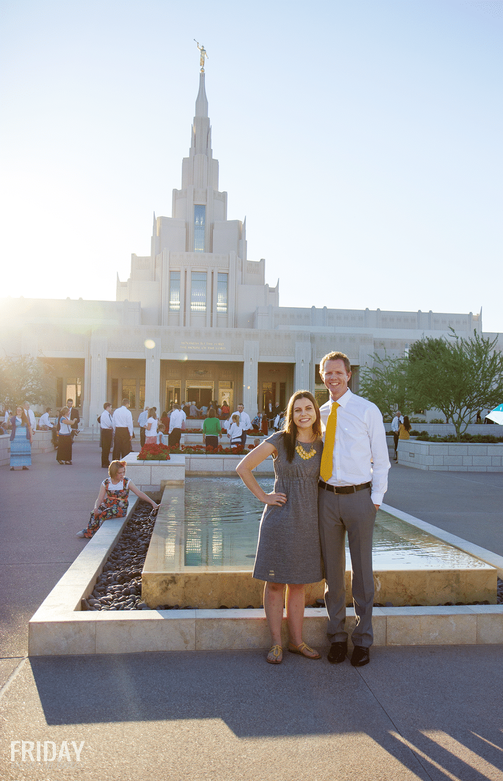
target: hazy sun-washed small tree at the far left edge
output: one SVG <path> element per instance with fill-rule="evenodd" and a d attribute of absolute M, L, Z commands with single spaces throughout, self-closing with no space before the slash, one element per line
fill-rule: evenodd
<path fill-rule="evenodd" d="M 0 359 L 0 398 L 14 412 L 23 401 L 42 404 L 48 395 L 44 369 L 51 370 L 32 355 L 6 355 Z"/>

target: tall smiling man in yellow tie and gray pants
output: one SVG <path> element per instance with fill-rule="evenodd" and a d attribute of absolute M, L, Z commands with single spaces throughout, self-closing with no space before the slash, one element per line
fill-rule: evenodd
<path fill-rule="evenodd" d="M 345 533 L 351 553 L 352 601 L 356 627 L 351 640 L 353 667 L 370 661 L 374 604 L 372 536 L 377 510 L 388 488 L 388 446 L 381 412 L 371 401 L 349 390 L 349 358 L 330 352 L 320 362 L 330 398 L 322 405 L 324 451 L 318 490 L 321 552 L 325 567 L 328 612 L 328 661 L 343 662 L 345 631 Z"/>

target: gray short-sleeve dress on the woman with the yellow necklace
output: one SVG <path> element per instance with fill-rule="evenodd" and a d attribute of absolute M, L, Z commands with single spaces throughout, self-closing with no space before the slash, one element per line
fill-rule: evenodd
<path fill-rule="evenodd" d="M 318 478 L 321 439 L 313 442 L 316 455 L 302 458 L 297 452 L 292 463 L 286 458 L 283 434 L 265 440 L 278 451 L 275 458 L 275 492 L 286 494 L 285 505 L 266 505 L 257 545 L 253 577 L 272 583 L 317 583 L 323 578 L 318 533 Z M 303 444 L 310 451 L 310 444 Z"/>

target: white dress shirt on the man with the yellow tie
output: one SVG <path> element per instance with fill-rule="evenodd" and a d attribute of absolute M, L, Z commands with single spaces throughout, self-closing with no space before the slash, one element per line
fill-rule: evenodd
<path fill-rule="evenodd" d="M 329 399 L 320 408 L 323 438 L 333 403 Z M 371 481 L 372 501 L 382 505 L 391 464 L 381 412 L 371 401 L 355 396 L 349 389 L 338 404 L 333 469 L 327 482 L 348 486 Z"/>

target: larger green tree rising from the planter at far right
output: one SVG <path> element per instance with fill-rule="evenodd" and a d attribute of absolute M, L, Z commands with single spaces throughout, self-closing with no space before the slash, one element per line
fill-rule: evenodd
<path fill-rule="evenodd" d="M 447 339 L 431 337 L 409 349 L 407 379 L 415 404 L 436 407 L 455 426 L 456 438 L 466 431 L 479 409 L 492 409 L 503 399 L 503 356 L 491 341 L 473 331 L 459 337 L 451 328 Z"/>

